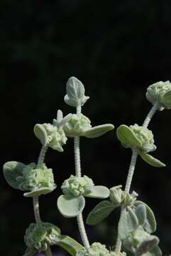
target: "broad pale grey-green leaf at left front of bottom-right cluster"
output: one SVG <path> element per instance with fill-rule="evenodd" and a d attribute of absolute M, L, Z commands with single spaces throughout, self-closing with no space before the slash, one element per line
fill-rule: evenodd
<path fill-rule="evenodd" d="M 118 236 L 121 240 L 126 240 L 131 231 L 138 228 L 138 218 L 133 210 L 128 207 L 128 212 L 123 211 L 121 218 L 118 223 Z"/>

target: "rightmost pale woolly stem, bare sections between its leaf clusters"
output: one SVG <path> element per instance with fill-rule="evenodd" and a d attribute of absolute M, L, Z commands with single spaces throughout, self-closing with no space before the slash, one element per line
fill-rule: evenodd
<path fill-rule="evenodd" d="M 155 112 L 158 110 L 158 107 L 159 107 L 158 102 L 155 102 L 155 104 L 153 105 L 151 110 L 148 112 L 148 115 L 143 122 L 143 127 L 146 127 L 146 128 L 148 127 L 148 124 L 150 124 L 150 121 L 153 118 L 153 115 L 155 114 Z M 126 178 L 126 187 L 125 187 L 126 193 L 129 193 L 130 188 L 131 188 L 131 183 L 133 180 L 133 174 L 135 171 L 137 158 L 138 158 L 138 149 L 133 149 L 132 156 L 131 156 L 131 164 L 129 166 L 128 176 Z M 126 207 L 122 206 L 121 207 L 121 216 L 123 215 L 125 210 L 126 210 Z M 121 216 L 120 216 L 120 219 L 121 219 Z M 121 245 L 122 245 L 122 242 L 121 242 L 120 238 L 117 237 L 116 247 L 115 247 L 116 255 L 119 255 L 119 252 L 121 252 Z"/>

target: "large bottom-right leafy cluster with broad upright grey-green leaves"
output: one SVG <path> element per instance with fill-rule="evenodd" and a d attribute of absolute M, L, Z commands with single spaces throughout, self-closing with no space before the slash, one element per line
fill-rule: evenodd
<path fill-rule="evenodd" d="M 144 228 L 148 218 L 145 206 L 138 205 L 134 210 L 128 206 L 127 209 L 118 223 L 118 235 L 123 246 L 135 255 L 143 255 L 155 249 L 159 239 L 155 235 L 150 235 Z M 160 254 L 156 256 L 158 255 Z"/>

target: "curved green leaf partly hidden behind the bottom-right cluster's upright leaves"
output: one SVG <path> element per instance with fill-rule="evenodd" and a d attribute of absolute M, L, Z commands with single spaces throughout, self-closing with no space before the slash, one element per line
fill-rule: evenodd
<path fill-rule="evenodd" d="M 155 220 L 155 215 L 153 213 L 153 210 L 150 209 L 148 205 L 143 203 L 142 201 L 136 201 L 136 206 L 143 204 L 146 208 L 146 213 L 147 213 L 147 218 L 145 220 L 145 223 L 143 225 L 143 228 L 148 232 L 148 233 L 154 233 L 156 230 L 156 220 Z"/>

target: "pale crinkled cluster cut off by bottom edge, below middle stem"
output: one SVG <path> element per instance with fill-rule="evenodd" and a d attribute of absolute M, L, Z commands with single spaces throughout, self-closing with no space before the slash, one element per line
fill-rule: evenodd
<path fill-rule="evenodd" d="M 94 242 L 89 247 L 89 252 L 84 249 L 77 252 L 76 256 L 116 256 L 116 253 L 107 250 L 105 245 L 101 245 L 99 242 Z M 126 253 L 120 252 L 118 256 L 126 256 Z"/>

